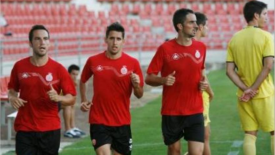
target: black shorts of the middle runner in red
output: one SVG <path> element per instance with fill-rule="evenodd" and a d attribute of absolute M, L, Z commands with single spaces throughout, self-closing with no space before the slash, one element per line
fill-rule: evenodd
<path fill-rule="evenodd" d="M 94 149 L 111 144 L 111 148 L 123 155 L 131 155 L 132 134 L 130 125 L 110 127 L 101 124 L 90 125 L 90 136 Z"/>

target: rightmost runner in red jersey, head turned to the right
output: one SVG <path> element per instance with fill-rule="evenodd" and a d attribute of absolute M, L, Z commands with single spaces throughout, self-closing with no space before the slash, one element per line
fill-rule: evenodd
<path fill-rule="evenodd" d="M 204 142 L 202 92 L 208 87 L 204 78 L 206 46 L 193 39 L 196 16 L 190 9 L 173 15 L 178 37 L 158 47 L 145 82 L 163 85 L 162 132 L 168 155 L 180 155 L 180 139 L 188 142 L 191 155 L 202 155 Z M 161 73 L 161 77 L 158 73 Z"/>

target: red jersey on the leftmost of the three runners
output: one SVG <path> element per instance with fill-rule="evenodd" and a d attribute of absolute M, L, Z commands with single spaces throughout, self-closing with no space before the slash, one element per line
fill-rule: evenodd
<path fill-rule="evenodd" d="M 44 132 L 60 129 L 58 104 L 50 101 L 47 91 L 50 84 L 59 94 L 76 95 L 75 86 L 68 71 L 49 58 L 43 66 L 34 66 L 31 57 L 19 60 L 12 68 L 8 89 L 20 92 L 20 98 L 27 101 L 19 108 L 14 122 L 15 131 Z"/>

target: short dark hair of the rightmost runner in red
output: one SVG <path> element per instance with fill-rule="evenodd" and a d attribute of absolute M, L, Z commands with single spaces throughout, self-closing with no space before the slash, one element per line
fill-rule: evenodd
<path fill-rule="evenodd" d="M 186 8 L 178 9 L 174 13 L 174 15 L 173 15 L 173 24 L 174 24 L 174 27 L 175 27 L 177 32 L 178 32 L 177 24 L 183 24 L 185 19 L 186 19 L 186 15 L 189 14 L 189 13 L 194 14 L 194 12 L 191 9 L 186 9 Z"/>

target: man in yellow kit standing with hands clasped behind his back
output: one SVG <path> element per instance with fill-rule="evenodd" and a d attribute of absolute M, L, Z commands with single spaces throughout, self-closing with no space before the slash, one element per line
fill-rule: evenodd
<path fill-rule="evenodd" d="M 249 1 L 243 8 L 247 27 L 233 35 L 227 48 L 227 76 L 239 88 L 238 110 L 244 131 L 244 155 L 256 154 L 257 131 L 271 134 L 274 154 L 274 41 L 264 30 L 267 4 Z M 237 69 L 237 70 L 235 70 Z"/>

